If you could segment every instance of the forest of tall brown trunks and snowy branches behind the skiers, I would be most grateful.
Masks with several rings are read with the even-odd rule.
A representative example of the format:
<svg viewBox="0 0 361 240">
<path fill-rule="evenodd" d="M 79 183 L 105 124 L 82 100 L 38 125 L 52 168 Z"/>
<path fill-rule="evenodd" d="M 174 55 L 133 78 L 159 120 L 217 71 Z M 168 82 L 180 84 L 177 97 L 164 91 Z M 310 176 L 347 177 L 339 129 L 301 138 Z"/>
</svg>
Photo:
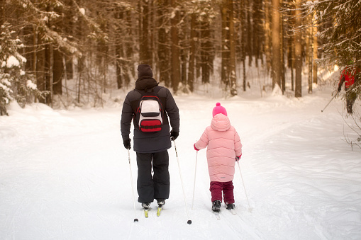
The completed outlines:
<svg viewBox="0 0 361 240">
<path fill-rule="evenodd" d="M 0 0 L 0 26 L 0 115 L 11 101 L 102 105 L 140 63 L 176 95 L 215 72 L 242 95 L 253 65 L 296 98 L 302 74 L 311 94 L 319 69 L 361 65 L 358 0 Z"/>
</svg>

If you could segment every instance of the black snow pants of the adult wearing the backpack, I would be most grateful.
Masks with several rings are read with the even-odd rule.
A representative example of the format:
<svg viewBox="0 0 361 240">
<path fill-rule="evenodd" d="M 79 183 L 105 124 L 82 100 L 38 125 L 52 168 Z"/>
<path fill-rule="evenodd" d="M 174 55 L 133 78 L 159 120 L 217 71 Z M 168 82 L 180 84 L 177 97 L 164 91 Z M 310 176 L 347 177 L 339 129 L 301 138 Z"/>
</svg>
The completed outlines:
<svg viewBox="0 0 361 240">
<path fill-rule="evenodd" d="M 168 151 L 144 154 L 137 152 L 138 202 L 153 202 L 170 196 L 170 173 Z M 153 169 L 153 175 L 152 175 Z"/>
</svg>

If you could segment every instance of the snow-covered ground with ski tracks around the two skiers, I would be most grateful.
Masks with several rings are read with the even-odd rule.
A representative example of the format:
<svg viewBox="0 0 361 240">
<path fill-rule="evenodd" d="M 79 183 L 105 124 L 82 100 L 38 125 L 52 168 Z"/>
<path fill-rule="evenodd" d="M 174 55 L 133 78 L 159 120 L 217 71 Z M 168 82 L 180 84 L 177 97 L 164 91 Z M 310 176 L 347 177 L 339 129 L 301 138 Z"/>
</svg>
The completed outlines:
<svg viewBox="0 0 361 240">
<path fill-rule="evenodd" d="M 340 100 L 321 113 L 331 90 L 299 99 L 174 98 L 179 165 L 173 146 L 170 199 L 160 217 L 153 203 L 148 219 L 138 202 L 133 208 L 121 103 L 69 111 L 12 104 L 0 117 L 0 239 L 361 239 L 361 150 L 344 140 L 355 133 Z M 218 101 L 243 142 L 238 215 L 223 207 L 221 220 L 211 213 L 206 151 L 196 166 L 193 149 Z M 133 151 L 130 159 L 135 187 Z"/>
</svg>

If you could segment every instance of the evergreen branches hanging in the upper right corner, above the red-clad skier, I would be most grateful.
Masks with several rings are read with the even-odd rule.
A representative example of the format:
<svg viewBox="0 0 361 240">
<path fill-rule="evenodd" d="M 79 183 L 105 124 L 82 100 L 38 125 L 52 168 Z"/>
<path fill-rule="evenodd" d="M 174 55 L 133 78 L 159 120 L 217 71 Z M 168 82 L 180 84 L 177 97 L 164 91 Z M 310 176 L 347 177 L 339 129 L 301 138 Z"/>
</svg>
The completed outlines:
<svg viewBox="0 0 361 240">
<path fill-rule="evenodd" d="M 323 57 L 318 59 L 322 67 L 333 69 L 337 65 L 361 69 L 361 1 L 308 1 L 309 13 L 316 12 L 319 26 L 318 37 L 323 40 Z M 349 91 L 361 98 L 361 72 L 356 71 L 359 81 Z M 346 98 L 346 94 L 343 94 Z"/>
</svg>

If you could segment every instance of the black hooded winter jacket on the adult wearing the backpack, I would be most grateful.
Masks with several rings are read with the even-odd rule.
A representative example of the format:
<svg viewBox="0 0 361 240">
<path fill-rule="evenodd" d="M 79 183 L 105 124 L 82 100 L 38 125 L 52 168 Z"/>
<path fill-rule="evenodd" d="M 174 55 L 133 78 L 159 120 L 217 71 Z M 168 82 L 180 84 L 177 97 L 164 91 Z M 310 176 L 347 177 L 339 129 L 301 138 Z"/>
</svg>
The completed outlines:
<svg viewBox="0 0 361 240">
<path fill-rule="evenodd" d="M 121 113 L 121 135 L 123 140 L 129 139 L 130 125 L 133 120 L 133 147 L 135 152 L 153 153 L 170 149 L 170 147 L 172 147 L 170 142 L 170 125 L 172 126 L 172 130 L 174 132 L 179 132 L 179 110 L 172 93 L 170 93 L 168 88 L 157 85 L 158 83 L 155 79 L 152 79 L 149 76 L 143 76 L 135 82 L 136 90 L 134 89 L 130 91 L 123 103 Z M 154 88 L 154 91 L 157 92 L 157 95 L 160 97 L 160 101 L 162 101 L 162 105 L 165 109 L 162 130 L 160 132 L 140 132 L 138 123 L 135 122 L 134 118 L 136 110 L 134 109 L 134 106 L 138 105 L 142 93 L 145 91 L 152 91 L 152 88 Z"/>
</svg>

